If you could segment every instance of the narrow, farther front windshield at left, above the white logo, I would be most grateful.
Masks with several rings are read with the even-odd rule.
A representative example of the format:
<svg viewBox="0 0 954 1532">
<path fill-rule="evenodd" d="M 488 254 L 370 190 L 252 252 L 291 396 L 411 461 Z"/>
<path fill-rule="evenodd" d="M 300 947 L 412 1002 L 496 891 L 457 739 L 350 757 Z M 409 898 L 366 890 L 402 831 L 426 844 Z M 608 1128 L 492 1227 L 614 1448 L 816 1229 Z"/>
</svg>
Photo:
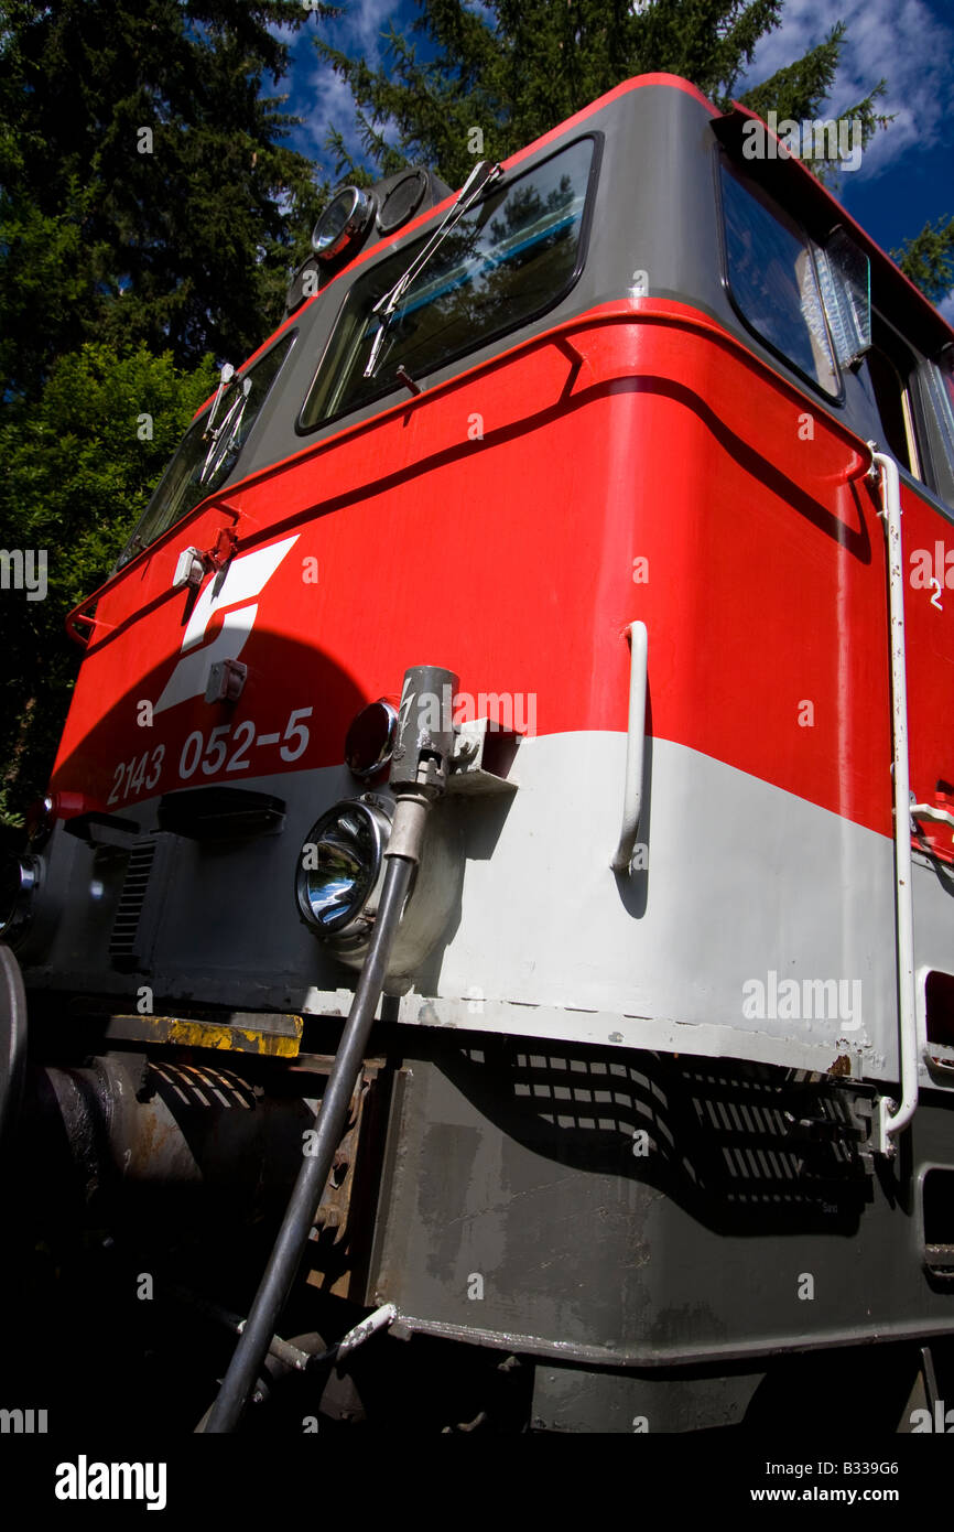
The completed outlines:
<svg viewBox="0 0 954 1532">
<path fill-rule="evenodd" d="M 239 461 L 242 447 L 279 368 L 288 355 L 292 339 L 294 336 L 285 336 L 251 368 L 234 374 L 219 398 L 211 432 L 208 430 L 208 409 L 193 421 L 182 446 L 162 475 L 156 493 L 142 512 L 116 568 L 129 564 L 136 553 L 147 548 L 201 499 L 225 483 Z"/>
</svg>

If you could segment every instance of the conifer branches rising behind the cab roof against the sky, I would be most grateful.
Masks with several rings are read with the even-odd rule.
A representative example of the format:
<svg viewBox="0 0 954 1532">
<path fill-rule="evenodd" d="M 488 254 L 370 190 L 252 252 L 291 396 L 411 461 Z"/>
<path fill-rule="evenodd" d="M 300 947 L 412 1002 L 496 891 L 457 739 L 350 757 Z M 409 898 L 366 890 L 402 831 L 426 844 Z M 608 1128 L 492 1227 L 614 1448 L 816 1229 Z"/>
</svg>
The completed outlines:
<svg viewBox="0 0 954 1532">
<path fill-rule="evenodd" d="M 504 158 L 639 74 L 692 80 L 727 107 L 761 37 L 781 20 L 784 0 L 490 0 L 478 15 L 464 0 L 418 0 L 412 34 L 384 34 L 387 67 L 371 69 L 320 38 L 315 46 L 348 81 L 361 147 L 380 173 L 424 162 L 461 185 L 473 156 L 470 127 L 484 152 Z M 779 118 L 816 118 L 827 100 L 844 43 L 844 26 L 822 44 L 749 92 L 746 104 Z M 890 121 L 876 112 L 880 81 L 848 113 L 862 119 L 864 141 Z M 340 132 L 329 147 L 338 173 L 354 175 Z"/>
</svg>

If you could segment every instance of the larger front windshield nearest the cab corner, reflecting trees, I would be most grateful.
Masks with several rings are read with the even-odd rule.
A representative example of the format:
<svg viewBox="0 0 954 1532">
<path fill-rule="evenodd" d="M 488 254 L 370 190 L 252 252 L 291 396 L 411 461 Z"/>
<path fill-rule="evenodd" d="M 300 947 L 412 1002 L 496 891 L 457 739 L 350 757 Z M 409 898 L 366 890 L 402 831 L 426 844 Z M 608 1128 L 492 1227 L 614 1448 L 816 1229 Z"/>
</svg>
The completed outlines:
<svg viewBox="0 0 954 1532">
<path fill-rule="evenodd" d="M 358 276 L 302 411 L 300 429 L 309 430 L 389 392 L 398 368 L 413 380 L 423 378 L 556 303 L 579 270 L 593 152 L 593 138 L 580 138 L 484 198 L 446 234 L 390 317 L 375 314 L 375 305 L 432 236 Z M 364 377 L 375 346 L 374 375 Z"/>
</svg>

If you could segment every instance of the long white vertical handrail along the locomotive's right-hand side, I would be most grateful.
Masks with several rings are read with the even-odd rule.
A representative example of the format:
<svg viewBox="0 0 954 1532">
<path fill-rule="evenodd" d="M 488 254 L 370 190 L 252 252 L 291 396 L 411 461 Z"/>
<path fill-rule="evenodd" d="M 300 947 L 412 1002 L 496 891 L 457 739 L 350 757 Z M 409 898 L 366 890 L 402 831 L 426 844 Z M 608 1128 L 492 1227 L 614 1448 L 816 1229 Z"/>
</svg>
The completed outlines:
<svg viewBox="0 0 954 1532">
<path fill-rule="evenodd" d="M 871 446 L 874 446 L 871 443 Z M 877 472 L 880 470 L 880 472 Z M 891 616 L 891 740 L 894 751 L 894 913 L 897 938 L 897 1030 L 900 1103 L 877 1100 L 879 1154 L 894 1154 L 894 1137 L 917 1111 L 917 993 L 914 980 L 914 896 L 911 892 L 911 791 L 908 780 L 908 682 L 905 654 L 905 562 L 900 539 L 900 480 L 897 463 L 885 452 L 871 453 L 877 475 L 888 555 Z"/>
</svg>

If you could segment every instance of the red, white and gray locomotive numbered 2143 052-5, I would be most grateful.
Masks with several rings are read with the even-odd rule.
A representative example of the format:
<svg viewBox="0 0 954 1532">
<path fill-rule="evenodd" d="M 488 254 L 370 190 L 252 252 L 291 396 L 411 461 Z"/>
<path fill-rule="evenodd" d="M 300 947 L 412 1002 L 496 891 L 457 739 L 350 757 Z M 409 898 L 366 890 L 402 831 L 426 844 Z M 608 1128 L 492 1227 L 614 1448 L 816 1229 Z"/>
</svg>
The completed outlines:
<svg viewBox="0 0 954 1532">
<path fill-rule="evenodd" d="M 67 617 L 5 1132 L 185 1431 L 943 1417 L 954 334 L 756 121 L 341 190 Z"/>
</svg>

